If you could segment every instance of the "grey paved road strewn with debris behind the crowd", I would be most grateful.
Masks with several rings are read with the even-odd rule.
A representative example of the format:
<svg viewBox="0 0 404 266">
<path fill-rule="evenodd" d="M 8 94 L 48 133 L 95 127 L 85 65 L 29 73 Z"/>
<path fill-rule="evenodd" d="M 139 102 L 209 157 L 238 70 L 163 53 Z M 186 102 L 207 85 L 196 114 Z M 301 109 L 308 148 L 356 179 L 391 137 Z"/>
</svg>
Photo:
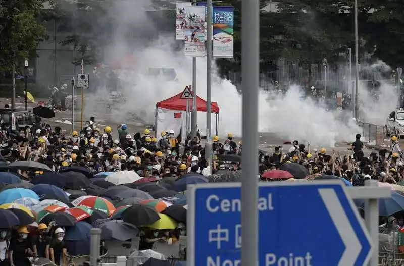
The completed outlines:
<svg viewBox="0 0 404 266">
<path fill-rule="evenodd" d="M 44 100 L 44 99 L 36 99 L 36 101 L 39 100 Z M 11 101 L 8 98 L 0 98 L 0 107 L 3 107 L 4 104 L 10 104 L 11 105 Z M 33 104 L 31 102 L 28 103 L 28 110 L 32 110 L 32 108 L 34 108 L 36 106 L 36 104 Z M 25 108 L 25 103 L 23 102 L 23 99 L 18 98 L 16 100 L 16 108 L 17 109 L 24 109 Z M 77 113 L 77 115 L 76 115 Z M 75 123 L 74 123 L 74 128 L 75 130 L 80 129 L 81 123 L 80 123 L 80 112 L 75 112 Z M 50 124 L 52 127 L 55 126 L 60 126 L 62 129 L 66 130 L 67 133 L 71 133 L 71 129 L 72 129 L 72 125 L 71 125 L 71 111 L 66 111 L 66 112 L 56 112 L 55 114 L 55 118 L 53 119 L 44 119 L 43 122 L 44 123 L 48 123 Z M 95 123 L 98 124 L 99 128 L 101 130 L 103 130 L 103 128 L 106 125 L 109 125 L 113 128 L 113 131 L 116 132 L 117 127 L 122 123 L 120 121 L 119 118 L 114 118 L 114 117 L 110 117 L 109 115 L 104 115 L 104 117 L 102 116 L 96 116 L 94 114 L 84 114 L 84 120 L 88 120 L 91 116 L 95 117 Z M 63 123 L 66 122 L 66 123 Z M 126 124 L 128 125 L 128 132 L 133 135 L 136 132 L 143 132 L 145 129 L 145 126 L 142 124 L 141 121 L 137 120 L 136 118 L 134 118 L 133 120 L 129 120 L 126 122 Z M 284 144 L 285 139 L 277 136 L 274 133 L 271 132 L 259 132 L 259 149 L 264 150 L 268 153 L 272 153 L 273 149 L 277 146 L 277 145 L 282 145 L 282 148 L 284 150 L 288 150 L 290 148 L 290 144 Z M 241 140 L 240 138 L 235 138 L 235 141 L 238 142 L 239 140 Z M 289 140 L 290 141 L 290 140 Z M 403 140 L 404 143 L 404 140 Z M 327 153 L 330 153 L 332 149 L 335 149 L 335 151 L 340 152 L 341 155 L 350 155 L 350 150 L 348 150 L 349 148 L 349 144 L 347 143 L 336 143 L 335 147 L 330 147 L 330 146 L 326 146 L 325 148 L 327 149 Z M 320 149 L 320 146 L 315 146 L 312 147 L 312 149 Z M 365 151 L 365 155 L 368 155 L 371 152 L 371 149 L 368 149 Z"/>
</svg>

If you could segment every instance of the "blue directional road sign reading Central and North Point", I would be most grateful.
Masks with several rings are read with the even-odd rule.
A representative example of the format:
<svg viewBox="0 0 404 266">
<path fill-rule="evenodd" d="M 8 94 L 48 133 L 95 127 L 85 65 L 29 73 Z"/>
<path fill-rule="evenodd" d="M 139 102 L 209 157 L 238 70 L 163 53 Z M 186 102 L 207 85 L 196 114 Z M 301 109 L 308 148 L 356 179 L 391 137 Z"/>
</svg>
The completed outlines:
<svg viewBox="0 0 404 266">
<path fill-rule="evenodd" d="M 240 185 L 190 186 L 187 219 L 190 266 L 240 266 Z M 339 181 L 260 184 L 259 265 L 367 264 L 371 240 L 345 189 Z M 242 266 L 251 265 L 256 266 L 254 261 Z"/>
</svg>

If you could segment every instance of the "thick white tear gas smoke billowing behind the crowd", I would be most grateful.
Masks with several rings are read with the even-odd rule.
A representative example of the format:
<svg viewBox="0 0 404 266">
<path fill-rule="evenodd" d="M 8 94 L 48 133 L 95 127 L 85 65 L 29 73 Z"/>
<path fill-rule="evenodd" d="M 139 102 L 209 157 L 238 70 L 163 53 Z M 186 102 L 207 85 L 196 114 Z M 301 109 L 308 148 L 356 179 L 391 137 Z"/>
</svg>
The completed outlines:
<svg viewBox="0 0 404 266">
<path fill-rule="evenodd" d="M 120 18 L 115 37 L 117 41 L 115 45 L 109 47 L 106 54 L 109 59 L 120 57 L 123 55 L 122 51 L 131 51 L 133 50 L 131 47 L 135 47 L 135 66 L 133 70 L 126 71 L 125 78 L 120 84 L 126 102 L 118 100 L 114 103 L 111 113 L 106 114 L 105 108 L 99 110 L 99 103 L 100 100 L 109 99 L 111 95 L 105 88 L 103 90 L 99 87 L 96 96 L 93 97 L 94 100 L 86 101 L 86 112 L 95 112 L 98 117 L 109 116 L 115 123 L 154 124 L 156 103 L 180 93 L 185 85 L 192 83 L 192 59 L 185 57 L 182 50 L 175 51 L 173 48 L 174 30 L 170 34 L 157 33 L 158 38 L 149 41 L 147 45 L 136 43 L 128 45 L 122 36 L 126 25 L 133 23 L 141 25 L 142 32 L 145 30 L 158 32 L 158 29 L 154 29 L 149 19 L 144 16 L 146 10 L 144 6 L 149 5 L 148 2 L 137 2 L 136 8 L 122 4 L 126 2 L 114 3 L 114 12 Z M 173 68 L 177 73 L 177 79 L 167 81 L 164 76 L 150 77 L 149 68 Z M 205 58 L 197 58 L 196 73 L 197 94 L 206 99 Z M 383 84 L 382 91 L 381 99 L 391 100 L 390 87 Z M 246 89 L 244 93 L 248 93 L 248 90 Z M 360 95 L 364 117 L 369 121 L 383 122 L 386 114 L 390 112 L 387 112 L 387 109 L 391 109 L 391 103 L 384 102 L 385 104 L 379 108 L 380 101 L 370 100 L 371 97 L 364 86 L 361 86 Z M 241 95 L 230 81 L 220 79 L 215 73 L 212 78 L 212 101 L 216 101 L 220 108 L 219 135 L 233 133 L 235 136 L 241 136 Z M 336 141 L 352 140 L 355 134 L 361 132 L 350 114 L 326 111 L 322 104 L 316 104 L 311 98 L 304 97 L 299 86 L 291 86 L 286 95 L 260 91 L 258 115 L 260 132 L 274 132 L 285 139 L 298 139 L 317 145 L 333 146 Z M 206 113 L 198 113 L 198 127 L 201 134 L 205 135 Z M 216 132 L 214 115 L 212 132 Z"/>
</svg>

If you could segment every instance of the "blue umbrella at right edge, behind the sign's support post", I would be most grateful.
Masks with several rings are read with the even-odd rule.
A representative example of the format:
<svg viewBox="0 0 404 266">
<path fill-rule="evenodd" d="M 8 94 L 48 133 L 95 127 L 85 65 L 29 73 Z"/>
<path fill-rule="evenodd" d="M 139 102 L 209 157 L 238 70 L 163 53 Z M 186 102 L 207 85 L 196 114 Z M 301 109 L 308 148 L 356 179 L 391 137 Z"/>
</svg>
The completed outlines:
<svg viewBox="0 0 404 266">
<path fill-rule="evenodd" d="M 365 201 L 362 199 L 355 199 L 354 202 L 357 207 L 365 207 Z M 396 191 L 391 191 L 391 198 L 379 199 L 379 216 L 390 216 L 402 210 L 404 210 L 404 196 Z"/>
</svg>

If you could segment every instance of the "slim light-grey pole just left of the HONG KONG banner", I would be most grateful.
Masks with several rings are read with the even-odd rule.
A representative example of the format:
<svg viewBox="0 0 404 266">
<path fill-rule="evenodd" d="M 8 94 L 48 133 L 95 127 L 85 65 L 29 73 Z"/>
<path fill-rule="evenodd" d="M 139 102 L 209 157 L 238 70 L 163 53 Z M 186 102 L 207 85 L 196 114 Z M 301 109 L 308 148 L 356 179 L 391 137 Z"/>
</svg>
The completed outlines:
<svg viewBox="0 0 404 266">
<path fill-rule="evenodd" d="M 212 0 L 207 3 L 208 20 L 206 36 L 206 144 L 205 158 L 209 159 L 212 169 L 213 150 L 212 150 Z"/>
</svg>

